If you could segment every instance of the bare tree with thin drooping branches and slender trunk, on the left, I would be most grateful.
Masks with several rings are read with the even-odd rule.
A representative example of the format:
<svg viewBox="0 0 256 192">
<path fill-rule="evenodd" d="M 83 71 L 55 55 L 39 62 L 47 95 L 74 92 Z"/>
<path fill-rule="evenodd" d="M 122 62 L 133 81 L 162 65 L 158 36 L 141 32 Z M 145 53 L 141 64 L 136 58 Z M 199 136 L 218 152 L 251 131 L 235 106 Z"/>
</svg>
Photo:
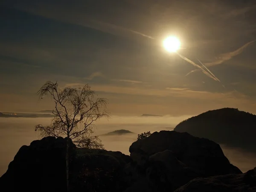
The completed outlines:
<svg viewBox="0 0 256 192">
<path fill-rule="evenodd" d="M 69 186 L 69 141 L 78 147 L 104 148 L 101 140 L 93 136 L 94 122 L 102 117 L 109 117 L 107 99 L 94 99 L 95 92 L 88 84 L 84 87 L 65 87 L 58 89 L 58 83 L 47 81 L 38 91 L 41 99 L 50 96 L 55 102 L 52 113 L 55 117 L 49 126 L 36 125 L 35 131 L 40 132 L 40 137 L 54 136 L 67 137 L 66 169 L 67 192 Z"/>
</svg>

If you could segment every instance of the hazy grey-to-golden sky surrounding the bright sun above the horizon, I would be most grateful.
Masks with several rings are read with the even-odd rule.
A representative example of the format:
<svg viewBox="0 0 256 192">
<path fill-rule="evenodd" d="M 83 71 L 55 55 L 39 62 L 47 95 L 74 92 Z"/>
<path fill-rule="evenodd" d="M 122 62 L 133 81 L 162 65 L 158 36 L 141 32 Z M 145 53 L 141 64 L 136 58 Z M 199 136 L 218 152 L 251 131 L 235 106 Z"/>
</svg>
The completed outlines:
<svg viewBox="0 0 256 192">
<path fill-rule="evenodd" d="M 52 109 L 36 92 L 58 81 L 113 114 L 256 113 L 255 18 L 254 0 L 1 0 L 0 111 Z M 167 52 L 169 35 L 221 83 Z"/>
</svg>

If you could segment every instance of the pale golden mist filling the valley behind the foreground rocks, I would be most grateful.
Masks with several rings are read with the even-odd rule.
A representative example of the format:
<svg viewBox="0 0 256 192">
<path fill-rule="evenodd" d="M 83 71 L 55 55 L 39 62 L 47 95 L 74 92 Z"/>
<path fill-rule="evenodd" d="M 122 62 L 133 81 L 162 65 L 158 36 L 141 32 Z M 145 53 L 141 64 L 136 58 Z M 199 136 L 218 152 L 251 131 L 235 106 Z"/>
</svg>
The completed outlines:
<svg viewBox="0 0 256 192">
<path fill-rule="evenodd" d="M 100 119 L 96 122 L 95 134 L 99 135 L 104 147 L 108 151 L 121 151 L 129 155 L 131 143 L 137 140 L 137 134 L 151 131 L 169 130 L 187 119 L 189 116 L 111 116 L 111 119 Z M 38 140 L 35 125 L 49 125 L 51 118 L 0 118 L 0 175 L 3 175 L 9 163 L 22 145 L 29 145 L 33 140 Z M 111 131 L 125 129 L 134 134 L 104 136 Z M 240 148 L 230 148 L 221 145 L 224 154 L 230 162 L 238 166 L 242 172 L 253 169 L 256 162 L 256 153 L 249 153 Z"/>
</svg>

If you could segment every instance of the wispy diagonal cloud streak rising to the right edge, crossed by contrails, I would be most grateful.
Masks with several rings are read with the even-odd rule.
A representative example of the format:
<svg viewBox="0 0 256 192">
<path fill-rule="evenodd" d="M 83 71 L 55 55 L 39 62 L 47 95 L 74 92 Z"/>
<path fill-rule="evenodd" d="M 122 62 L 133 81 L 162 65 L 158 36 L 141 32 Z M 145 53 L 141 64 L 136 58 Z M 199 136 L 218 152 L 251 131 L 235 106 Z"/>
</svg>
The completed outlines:
<svg viewBox="0 0 256 192">
<path fill-rule="evenodd" d="M 218 57 L 218 60 L 213 61 L 213 62 L 206 63 L 206 64 L 204 64 L 204 65 L 207 66 L 207 67 L 211 67 L 211 66 L 215 66 L 215 65 L 222 64 L 222 63 L 224 63 L 225 61 L 228 61 L 228 60 L 230 60 L 231 58 L 235 57 L 236 55 L 239 55 L 241 52 L 244 51 L 245 48 L 247 48 L 250 44 L 254 43 L 255 41 L 256 41 L 256 40 L 250 41 L 250 42 L 248 42 L 247 44 L 244 44 L 242 47 L 240 47 L 239 49 L 236 49 L 236 50 L 233 51 L 233 52 L 227 52 L 227 53 L 221 54 L 221 55 Z M 198 69 L 197 69 L 197 70 L 192 70 L 192 71 L 190 71 L 189 73 L 186 74 L 186 76 L 188 76 L 190 73 L 193 73 L 193 72 L 195 72 L 195 71 L 198 71 Z"/>
</svg>

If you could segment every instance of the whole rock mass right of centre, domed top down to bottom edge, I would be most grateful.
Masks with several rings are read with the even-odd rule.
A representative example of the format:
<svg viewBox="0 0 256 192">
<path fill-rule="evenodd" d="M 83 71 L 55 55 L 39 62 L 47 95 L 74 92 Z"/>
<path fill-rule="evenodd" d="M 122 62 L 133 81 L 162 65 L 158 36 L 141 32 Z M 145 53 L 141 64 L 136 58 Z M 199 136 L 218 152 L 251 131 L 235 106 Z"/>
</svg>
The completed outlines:
<svg viewBox="0 0 256 192">
<path fill-rule="evenodd" d="M 172 192 L 196 177 L 242 173 L 217 143 L 188 133 L 154 132 L 134 142 L 129 151 L 137 180 L 125 192 Z"/>
</svg>

